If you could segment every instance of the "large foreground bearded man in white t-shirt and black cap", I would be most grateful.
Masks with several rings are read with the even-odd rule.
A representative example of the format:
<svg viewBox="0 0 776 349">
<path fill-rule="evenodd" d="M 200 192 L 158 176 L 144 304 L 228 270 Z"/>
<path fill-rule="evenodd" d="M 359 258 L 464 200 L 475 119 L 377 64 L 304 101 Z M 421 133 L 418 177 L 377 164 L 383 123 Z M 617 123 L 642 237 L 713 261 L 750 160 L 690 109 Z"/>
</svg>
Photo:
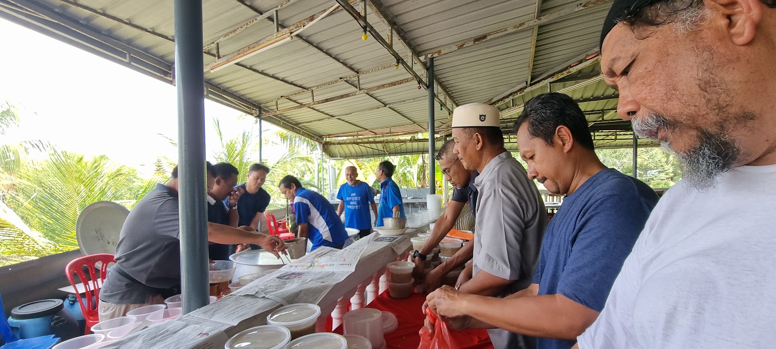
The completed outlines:
<svg viewBox="0 0 776 349">
<path fill-rule="evenodd" d="M 776 1 L 615 0 L 618 113 L 677 154 L 581 348 L 776 347 Z"/>
</svg>

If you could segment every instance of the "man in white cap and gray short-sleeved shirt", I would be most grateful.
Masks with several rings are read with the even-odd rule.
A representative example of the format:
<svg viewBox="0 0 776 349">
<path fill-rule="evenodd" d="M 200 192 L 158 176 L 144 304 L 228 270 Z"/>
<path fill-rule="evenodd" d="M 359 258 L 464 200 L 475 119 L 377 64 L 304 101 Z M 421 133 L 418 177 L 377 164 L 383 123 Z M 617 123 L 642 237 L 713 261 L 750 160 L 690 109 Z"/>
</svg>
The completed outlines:
<svg viewBox="0 0 776 349">
<path fill-rule="evenodd" d="M 476 204 L 473 277 L 460 291 L 511 295 L 531 285 L 547 226 L 542 195 L 525 168 L 504 148 L 499 112 L 493 105 L 460 105 L 452 114 L 453 152 L 474 181 Z M 488 330 L 494 347 L 534 347 L 532 338 Z"/>
</svg>

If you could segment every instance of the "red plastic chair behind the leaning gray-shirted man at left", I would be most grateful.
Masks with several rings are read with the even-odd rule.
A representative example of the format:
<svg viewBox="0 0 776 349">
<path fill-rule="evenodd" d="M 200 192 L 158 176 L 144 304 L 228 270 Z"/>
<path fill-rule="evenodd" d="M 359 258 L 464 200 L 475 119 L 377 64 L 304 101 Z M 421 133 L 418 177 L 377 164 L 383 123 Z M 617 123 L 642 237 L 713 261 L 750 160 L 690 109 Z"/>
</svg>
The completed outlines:
<svg viewBox="0 0 776 349">
<path fill-rule="evenodd" d="M 91 333 L 92 326 L 99 323 L 99 289 L 108 275 L 108 264 L 116 263 L 114 258 L 113 254 L 90 254 L 75 258 L 68 263 L 67 267 L 64 267 L 64 273 L 68 275 L 68 281 L 73 286 L 73 289 L 76 289 L 75 284 L 78 283 L 75 282 L 73 275 L 78 275 L 78 278 L 84 284 L 84 297 L 76 295 L 78 304 L 81 306 L 81 313 L 84 314 L 84 319 L 86 320 L 84 334 Z M 97 272 L 97 262 L 100 262 L 99 274 Z M 88 276 L 84 273 L 84 268 L 88 271 Z M 78 292 L 78 289 L 76 289 L 76 292 Z"/>
</svg>

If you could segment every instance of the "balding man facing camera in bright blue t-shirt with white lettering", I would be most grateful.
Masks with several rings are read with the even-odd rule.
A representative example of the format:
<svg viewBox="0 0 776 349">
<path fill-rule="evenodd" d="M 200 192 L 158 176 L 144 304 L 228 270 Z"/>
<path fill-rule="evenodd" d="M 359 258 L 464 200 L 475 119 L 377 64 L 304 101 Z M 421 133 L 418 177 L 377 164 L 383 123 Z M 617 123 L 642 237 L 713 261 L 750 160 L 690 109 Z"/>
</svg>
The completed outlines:
<svg viewBox="0 0 776 349">
<path fill-rule="evenodd" d="M 345 180 L 347 183 L 340 185 L 337 199 L 340 204 L 337 207 L 337 216 L 345 211 L 345 226 L 358 229 L 359 237 L 365 237 L 372 233 L 372 216 L 369 216 L 369 206 L 377 219 L 377 205 L 372 195 L 372 187 L 359 181 L 359 171 L 355 166 L 345 168 Z M 376 222 L 376 220 L 375 220 Z"/>
</svg>

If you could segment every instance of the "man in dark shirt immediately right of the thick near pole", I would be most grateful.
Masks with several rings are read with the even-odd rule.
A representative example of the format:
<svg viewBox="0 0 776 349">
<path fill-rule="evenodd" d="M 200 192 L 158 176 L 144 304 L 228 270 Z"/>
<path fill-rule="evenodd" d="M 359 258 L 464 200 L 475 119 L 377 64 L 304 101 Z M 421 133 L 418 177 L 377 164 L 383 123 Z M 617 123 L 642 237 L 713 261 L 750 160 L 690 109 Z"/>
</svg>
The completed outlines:
<svg viewBox="0 0 776 349">
<path fill-rule="evenodd" d="M 239 171 L 232 164 L 222 162 L 213 165 L 216 181 L 207 192 L 207 221 L 237 228 L 237 199 L 243 190 L 234 190 Z M 228 261 L 235 251 L 234 245 L 210 243 L 208 254 L 213 261 Z"/>
</svg>

